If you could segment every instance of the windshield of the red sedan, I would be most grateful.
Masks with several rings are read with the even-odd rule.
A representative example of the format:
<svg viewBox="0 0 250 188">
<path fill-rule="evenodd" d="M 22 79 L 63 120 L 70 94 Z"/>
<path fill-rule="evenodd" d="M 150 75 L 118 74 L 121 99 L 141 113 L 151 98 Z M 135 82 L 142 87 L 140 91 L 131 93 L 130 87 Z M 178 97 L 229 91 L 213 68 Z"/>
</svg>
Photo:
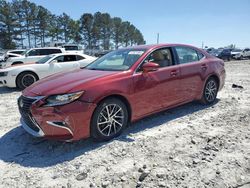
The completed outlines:
<svg viewBox="0 0 250 188">
<path fill-rule="evenodd" d="M 122 49 L 110 52 L 86 67 L 90 70 L 124 71 L 128 70 L 146 49 Z"/>
</svg>

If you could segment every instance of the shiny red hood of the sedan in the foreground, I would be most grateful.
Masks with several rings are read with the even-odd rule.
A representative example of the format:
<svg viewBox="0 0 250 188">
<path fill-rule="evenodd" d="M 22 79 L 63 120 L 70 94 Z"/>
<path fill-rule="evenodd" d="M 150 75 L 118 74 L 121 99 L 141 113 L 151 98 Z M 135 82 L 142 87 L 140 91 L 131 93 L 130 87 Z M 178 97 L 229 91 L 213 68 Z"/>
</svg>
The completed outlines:
<svg viewBox="0 0 250 188">
<path fill-rule="evenodd" d="M 117 71 L 77 69 L 48 76 L 23 91 L 25 96 L 48 96 L 84 90 L 87 83 L 117 74 Z M 80 87 L 79 87 L 80 86 Z"/>
</svg>

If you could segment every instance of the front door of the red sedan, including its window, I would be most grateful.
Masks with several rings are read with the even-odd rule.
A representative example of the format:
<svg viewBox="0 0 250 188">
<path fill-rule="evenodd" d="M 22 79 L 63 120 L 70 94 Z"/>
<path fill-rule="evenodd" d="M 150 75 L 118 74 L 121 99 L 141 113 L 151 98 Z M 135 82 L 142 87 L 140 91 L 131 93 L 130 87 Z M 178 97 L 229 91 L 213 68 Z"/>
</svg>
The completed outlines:
<svg viewBox="0 0 250 188">
<path fill-rule="evenodd" d="M 142 65 L 154 62 L 160 68 L 153 72 L 143 73 Z M 140 65 L 133 76 L 134 94 L 137 103 L 134 105 L 135 116 L 140 117 L 162 108 L 175 105 L 179 101 L 179 66 L 171 48 L 162 48 L 152 52 Z"/>
</svg>

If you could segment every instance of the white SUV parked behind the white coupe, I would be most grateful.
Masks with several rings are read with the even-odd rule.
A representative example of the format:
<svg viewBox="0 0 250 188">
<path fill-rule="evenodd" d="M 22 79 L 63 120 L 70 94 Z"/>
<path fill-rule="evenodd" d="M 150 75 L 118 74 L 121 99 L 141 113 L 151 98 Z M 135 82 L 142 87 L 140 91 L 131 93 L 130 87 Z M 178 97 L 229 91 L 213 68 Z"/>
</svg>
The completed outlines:
<svg viewBox="0 0 250 188">
<path fill-rule="evenodd" d="M 45 47 L 45 48 L 31 48 L 22 54 L 21 57 L 8 58 L 6 62 L 2 62 L 1 67 L 8 67 L 11 65 L 33 63 L 42 59 L 46 55 L 63 53 L 65 50 L 63 48 L 57 47 Z"/>
</svg>

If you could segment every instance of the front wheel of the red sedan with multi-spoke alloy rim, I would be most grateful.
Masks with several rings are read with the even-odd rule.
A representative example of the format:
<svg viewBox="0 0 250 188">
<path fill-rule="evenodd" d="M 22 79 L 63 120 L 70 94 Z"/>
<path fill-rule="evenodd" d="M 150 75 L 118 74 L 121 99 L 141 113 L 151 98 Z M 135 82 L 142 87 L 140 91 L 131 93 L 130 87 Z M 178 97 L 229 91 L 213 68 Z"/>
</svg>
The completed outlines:
<svg viewBox="0 0 250 188">
<path fill-rule="evenodd" d="M 91 137 L 95 141 L 109 141 L 119 136 L 128 124 L 128 110 L 119 99 L 101 102 L 91 120 Z"/>
</svg>

